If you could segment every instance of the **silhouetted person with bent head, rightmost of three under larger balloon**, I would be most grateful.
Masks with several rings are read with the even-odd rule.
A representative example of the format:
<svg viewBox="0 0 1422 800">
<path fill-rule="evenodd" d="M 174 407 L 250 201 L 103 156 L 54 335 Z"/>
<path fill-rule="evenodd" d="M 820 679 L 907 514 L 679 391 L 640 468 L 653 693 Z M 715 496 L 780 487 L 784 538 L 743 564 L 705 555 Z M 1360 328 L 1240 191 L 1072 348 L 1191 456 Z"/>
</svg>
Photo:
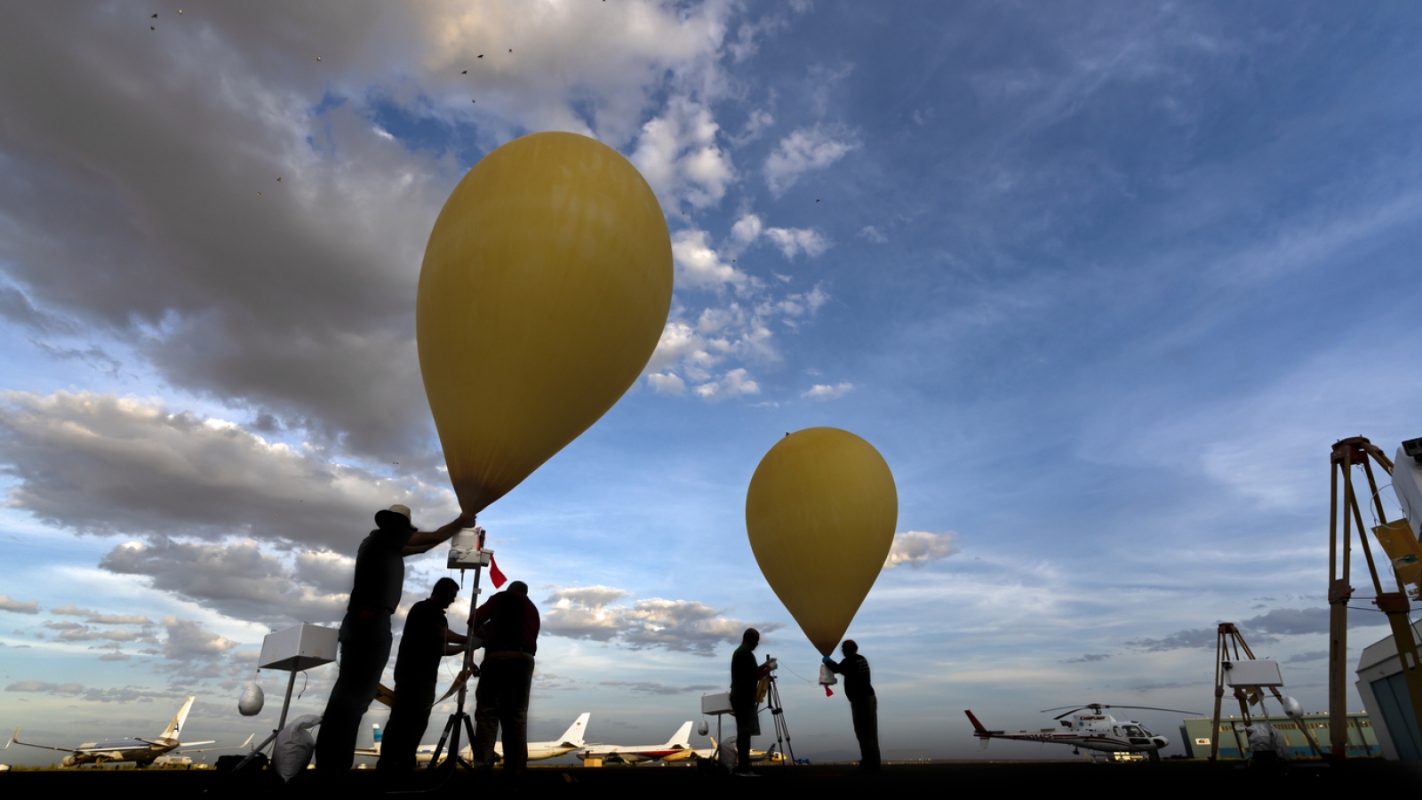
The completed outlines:
<svg viewBox="0 0 1422 800">
<path fill-rule="evenodd" d="M 538 652 L 539 616 L 523 581 L 493 595 L 474 612 L 483 639 L 479 686 L 474 692 L 474 757 L 493 764 L 493 740 L 503 727 L 503 772 L 522 774 L 529 762 L 529 688 Z"/>
</svg>

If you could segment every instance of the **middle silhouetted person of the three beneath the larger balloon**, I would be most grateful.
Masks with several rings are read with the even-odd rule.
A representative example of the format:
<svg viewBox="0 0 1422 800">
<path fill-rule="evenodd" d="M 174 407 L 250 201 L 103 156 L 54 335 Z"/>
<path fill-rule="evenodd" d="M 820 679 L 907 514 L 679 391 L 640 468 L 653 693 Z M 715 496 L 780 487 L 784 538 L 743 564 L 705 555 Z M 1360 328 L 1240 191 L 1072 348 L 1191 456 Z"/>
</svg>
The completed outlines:
<svg viewBox="0 0 1422 800">
<path fill-rule="evenodd" d="M 464 652 L 465 638 L 449 629 L 445 609 L 459 596 L 459 584 L 439 578 L 422 599 L 410 606 L 395 656 L 395 705 L 390 709 L 385 737 L 375 769 L 388 780 L 404 780 L 415 769 L 415 750 L 429 725 L 439 660 Z"/>
</svg>

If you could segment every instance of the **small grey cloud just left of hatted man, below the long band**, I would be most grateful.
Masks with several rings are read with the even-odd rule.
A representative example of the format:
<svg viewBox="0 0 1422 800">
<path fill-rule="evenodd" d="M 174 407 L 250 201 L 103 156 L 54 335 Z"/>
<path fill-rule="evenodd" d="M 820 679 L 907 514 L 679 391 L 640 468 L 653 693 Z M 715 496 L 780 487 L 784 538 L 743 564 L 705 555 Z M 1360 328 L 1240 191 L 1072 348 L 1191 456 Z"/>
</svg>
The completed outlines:
<svg viewBox="0 0 1422 800">
<path fill-rule="evenodd" d="M 307 551 L 289 564 L 252 540 L 186 542 L 154 537 L 124 542 L 100 568 L 148 584 L 236 619 L 333 622 L 346 614 L 354 559 Z M 168 621 L 164 621 L 168 625 Z"/>
</svg>

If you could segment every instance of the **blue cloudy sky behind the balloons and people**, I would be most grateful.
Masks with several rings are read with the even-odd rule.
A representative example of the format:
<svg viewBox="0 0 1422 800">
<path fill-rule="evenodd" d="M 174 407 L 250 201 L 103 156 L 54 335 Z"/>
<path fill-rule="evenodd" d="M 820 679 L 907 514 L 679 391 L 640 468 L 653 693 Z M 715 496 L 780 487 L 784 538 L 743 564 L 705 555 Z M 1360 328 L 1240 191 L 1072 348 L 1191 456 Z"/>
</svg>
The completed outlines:
<svg viewBox="0 0 1422 800">
<path fill-rule="evenodd" d="M 664 740 L 757 625 L 796 754 L 853 754 L 745 532 L 815 426 L 897 484 L 848 632 L 886 757 L 975 757 L 963 709 L 1209 712 L 1223 621 L 1324 710 L 1330 446 L 1422 436 L 1416 6 L 181 9 L 0 10 L 0 727 L 149 736 L 189 695 L 192 737 L 273 726 L 262 638 L 338 622 L 375 510 L 458 514 L 419 263 L 538 131 L 641 171 L 675 290 L 637 383 L 479 517 L 543 615 L 532 739 Z"/>
</svg>

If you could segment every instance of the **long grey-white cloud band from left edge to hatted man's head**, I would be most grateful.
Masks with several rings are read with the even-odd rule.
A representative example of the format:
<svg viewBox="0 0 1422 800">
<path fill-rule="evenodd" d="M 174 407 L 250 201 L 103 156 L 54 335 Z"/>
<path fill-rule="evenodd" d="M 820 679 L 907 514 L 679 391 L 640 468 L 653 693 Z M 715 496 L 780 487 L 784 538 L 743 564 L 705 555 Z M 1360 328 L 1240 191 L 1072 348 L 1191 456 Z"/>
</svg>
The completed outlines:
<svg viewBox="0 0 1422 800">
<path fill-rule="evenodd" d="M 350 548 L 375 508 L 454 517 L 448 491 L 331 463 L 232 423 L 112 394 L 0 396 L 10 505 L 97 534 L 230 534 Z M 442 511 L 442 514 L 439 514 Z"/>
</svg>

